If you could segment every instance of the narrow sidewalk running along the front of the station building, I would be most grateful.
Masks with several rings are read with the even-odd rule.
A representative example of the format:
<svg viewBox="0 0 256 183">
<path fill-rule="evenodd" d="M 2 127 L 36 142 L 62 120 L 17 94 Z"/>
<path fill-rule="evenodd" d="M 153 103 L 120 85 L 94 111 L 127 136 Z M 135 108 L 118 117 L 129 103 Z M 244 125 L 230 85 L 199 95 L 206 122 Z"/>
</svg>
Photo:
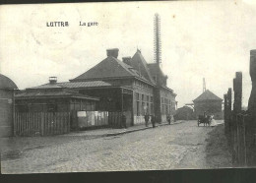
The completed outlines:
<svg viewBox="0 0 256 183">
<path fill-rule="evenodd" d="M 184 122 L 184 121 L 179 120 L 179 121 L 170 123 L 170 125 L 174 125 L 174 124 L 178 124 L 178 123 L 182 123 L 182 122 Z M 164 125 L 168 125 L 168 123 L 166 123 L 166 122 L 163 122 L 161 124 L 157 123 L 156 128 L 158 128 L 160 126 L 164 126 Z M 145 124 L 142 124 L 142 125 L 135 125 L 132 127 L 128 127 L 127 129 L 107 128 L 107 129 L 96 129 L 96 130 L 88 130 L 88 131 L 77 131 L 77 132 L 71 132 L 69 134 L 64 134 L 61 136 L 83 136 L 83 137 L 91 137 L 91 138 L 109 137 L 109 136 L 117 136 L 117 135 L 121 135 L 121 134 L 127 134 L 127 133 L 131 133 L 131 132 L 141 131 L 141 130 L 147 130 L 147 129 L 151 129 L 151 128 L 153 128 L 152 124 L 150 124 L 148 127 L 146 127 Z"/>
</svg>

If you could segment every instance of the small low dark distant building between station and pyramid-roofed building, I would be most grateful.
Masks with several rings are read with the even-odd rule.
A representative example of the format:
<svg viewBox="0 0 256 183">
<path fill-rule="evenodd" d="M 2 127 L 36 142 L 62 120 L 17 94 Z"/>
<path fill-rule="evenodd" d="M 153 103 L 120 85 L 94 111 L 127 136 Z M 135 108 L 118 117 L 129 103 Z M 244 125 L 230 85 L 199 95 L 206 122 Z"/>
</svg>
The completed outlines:
<svg viewBox="0 0 256 183">
<path fill-rule="evenodd" d="M 176 110 L 174 118 L 175 120 L 193 120 L 196 119 L 196 116 L 193 107 L 185 105 Z"/>
</svg>

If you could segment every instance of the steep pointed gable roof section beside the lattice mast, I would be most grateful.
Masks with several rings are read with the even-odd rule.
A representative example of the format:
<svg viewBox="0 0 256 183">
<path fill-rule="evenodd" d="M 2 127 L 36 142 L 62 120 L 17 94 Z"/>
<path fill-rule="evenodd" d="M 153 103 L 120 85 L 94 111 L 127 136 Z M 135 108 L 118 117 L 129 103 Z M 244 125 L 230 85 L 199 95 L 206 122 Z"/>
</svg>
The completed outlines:
<svg viewBox="0 0 256 183">
<path fill-rule="evenodd" d="M 137 50 L 137 52 L 133 55 L 133 57 L 130 60 L 130 64 L 134 69 L 139 71 L 139 73 L 142 76 L 144 76 L 148 81 L 150 81 L 152 84 L 155 84 L 155 81 L 153 80 L 153 77 L 151 76 L 150 69 L 148 67 L 148 63 L 142 56 L 140 50 Z"/>
</svg>

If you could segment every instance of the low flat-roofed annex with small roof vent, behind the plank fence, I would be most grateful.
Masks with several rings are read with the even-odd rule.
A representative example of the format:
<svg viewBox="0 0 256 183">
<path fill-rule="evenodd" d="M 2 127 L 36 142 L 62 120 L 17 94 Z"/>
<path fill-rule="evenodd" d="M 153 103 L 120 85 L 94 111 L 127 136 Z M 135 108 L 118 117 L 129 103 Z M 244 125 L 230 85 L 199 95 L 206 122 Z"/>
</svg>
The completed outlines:
<svg viewBox="0 0 256 183">
<path fill-rule="evenodd" d="M 69 89 L 65 84 L 57 83 L 56 77 L 50 77 L 49 83 L 17 91 L 15 94 L 16 111 L 24 112 L 70 112 L 71 130 L 78 127 L 78 111 L 95 111 L 99 100 L 77 90 Z"/>
</svg>

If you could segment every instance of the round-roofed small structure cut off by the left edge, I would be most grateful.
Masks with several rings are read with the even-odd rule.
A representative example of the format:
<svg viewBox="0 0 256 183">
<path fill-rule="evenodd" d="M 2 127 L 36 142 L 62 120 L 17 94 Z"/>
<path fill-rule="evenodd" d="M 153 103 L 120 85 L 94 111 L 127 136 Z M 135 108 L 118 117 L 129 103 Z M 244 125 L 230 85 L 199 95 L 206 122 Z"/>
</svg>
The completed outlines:
<svg viewBox="0 0 256 183">
<path fill-rule="evenodd" d="M 15 83 L 0 74 L 0 138 L 13 136 Z"/>
</svg>

